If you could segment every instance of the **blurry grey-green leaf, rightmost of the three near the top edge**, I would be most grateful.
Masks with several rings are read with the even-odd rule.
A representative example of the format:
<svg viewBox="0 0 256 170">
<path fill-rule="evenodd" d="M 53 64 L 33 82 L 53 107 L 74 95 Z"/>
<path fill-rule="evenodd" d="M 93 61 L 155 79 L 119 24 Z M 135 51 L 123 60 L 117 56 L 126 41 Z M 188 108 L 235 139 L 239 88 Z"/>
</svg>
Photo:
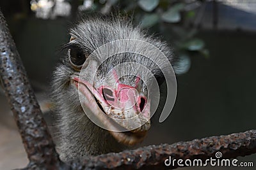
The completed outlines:
<svg viewBox="0 0 256 170">
<path fill-rule="evenodd" d="M 183 3 L 174 4 L 169 8 L 169 10 L 163 13 L 163 15 L 161 16 L 162 20 L 170 23 L 179 22 L 181 19 L 180 10 L 182 10 L 184 6 L 185 5 Z"/>
</svg>

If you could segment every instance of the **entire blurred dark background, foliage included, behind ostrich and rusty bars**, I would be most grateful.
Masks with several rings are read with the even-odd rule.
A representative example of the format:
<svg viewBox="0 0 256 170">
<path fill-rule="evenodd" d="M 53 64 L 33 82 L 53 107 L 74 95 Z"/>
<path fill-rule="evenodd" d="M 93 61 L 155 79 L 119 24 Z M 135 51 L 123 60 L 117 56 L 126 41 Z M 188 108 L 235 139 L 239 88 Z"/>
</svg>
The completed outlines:
<svg viewBox="0 0 256 170">
<path fill-rule="evenodd" d="M 177 101 L 168 119 L 154 116 L 140 146 L 175 143 L 255 129 L 256 1 L 254 0 L 1 0 L 36 97 L 49 113 L 49 81 L 58 48 L 69 40 L 77 13 L 122 13 L 175 48 Z M 0 92 L 0 169 L 28 164 L 3 90 Z M 256 155 L 239 157 L 253 162 Z M 183 169 L 230 169 L 186 167 Z M 255 167 L 254 167 L 255 168 Z M 180 168 L 181 169 L 181 168 Z M 237 167 L 236 169 L 253 169 Z"/>
</svg>

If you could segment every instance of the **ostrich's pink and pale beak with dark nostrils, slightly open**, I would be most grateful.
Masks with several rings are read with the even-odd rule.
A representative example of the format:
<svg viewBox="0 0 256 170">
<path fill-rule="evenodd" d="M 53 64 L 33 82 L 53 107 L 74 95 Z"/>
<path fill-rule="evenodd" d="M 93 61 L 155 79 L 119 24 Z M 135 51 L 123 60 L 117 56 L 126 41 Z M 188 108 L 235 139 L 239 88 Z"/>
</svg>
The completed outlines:
<svg viewBox="0 0 256 170">
<path fill-rule="evenodd" d="M 78 89 L 81 105 L 89 118 L 97 118 L 100 127 L 108 129 L 116 141 L 124 145 L 136 145 L 143 141 L 150 128 L 150 104 L 145 97 L 132 93 L 132 87 L 123 85 L 118 92 L 110 88 L 95 89 L 91 83 L 72 77 L 71 81 Z M 125 96 L 126 94 L 126 96 Z M 120 96 L 119 95 L 119 96 Z M 129 99 L 130 101 L 125 101 Z M 132 100 L 134 99 L 134 100 Z"/>
</svg>

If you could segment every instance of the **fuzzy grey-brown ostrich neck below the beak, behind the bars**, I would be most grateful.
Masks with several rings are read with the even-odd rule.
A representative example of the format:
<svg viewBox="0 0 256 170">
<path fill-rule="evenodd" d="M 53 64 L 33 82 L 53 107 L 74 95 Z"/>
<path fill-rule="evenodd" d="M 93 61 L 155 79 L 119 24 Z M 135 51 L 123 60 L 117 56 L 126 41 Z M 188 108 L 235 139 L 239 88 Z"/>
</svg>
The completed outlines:
<svg viewBox="0 0 256 170">
<path fill-rule="evenodd" d="M 61 113 L 63 114 L 63 113 Z M 120 152 L 124 146 L 108 131 L 93 124 L 83 110 L 67 112 L 61 117 L 61 138 L 57 143 L 61 160 L 70 160 L 88 155 Z"/>
</svg>

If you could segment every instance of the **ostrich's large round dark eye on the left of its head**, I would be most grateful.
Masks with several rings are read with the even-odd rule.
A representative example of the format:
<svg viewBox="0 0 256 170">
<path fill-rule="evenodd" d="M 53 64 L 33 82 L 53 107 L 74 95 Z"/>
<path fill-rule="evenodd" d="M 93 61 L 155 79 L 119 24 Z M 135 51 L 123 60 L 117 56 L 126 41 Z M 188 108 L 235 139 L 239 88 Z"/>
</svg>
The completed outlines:
<svg viewBox="0 0 256 170">
<path fill-rule="evenodd" d="M 86 60 L 86 56 L 84 55 L 84 53 L 77 48 L 68 49 L 68 57 L 71 64 L 76 67 L 82 67 Z"/>
</svg>

